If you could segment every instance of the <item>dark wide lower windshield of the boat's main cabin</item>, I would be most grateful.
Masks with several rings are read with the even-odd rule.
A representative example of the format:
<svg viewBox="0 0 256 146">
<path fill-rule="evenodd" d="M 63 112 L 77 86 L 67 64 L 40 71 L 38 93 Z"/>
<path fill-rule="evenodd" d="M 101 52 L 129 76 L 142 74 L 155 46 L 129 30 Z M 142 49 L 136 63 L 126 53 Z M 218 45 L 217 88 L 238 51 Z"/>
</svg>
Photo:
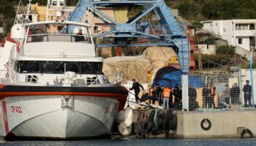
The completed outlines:
<svg viewBox="0 0 256 146">
<path fill-rule="evenodd" d="M 19 73 L 38 74 L 102 74 L 102 62 L 82 61 L 16 61 L 15 71 Z"/>
</svg>

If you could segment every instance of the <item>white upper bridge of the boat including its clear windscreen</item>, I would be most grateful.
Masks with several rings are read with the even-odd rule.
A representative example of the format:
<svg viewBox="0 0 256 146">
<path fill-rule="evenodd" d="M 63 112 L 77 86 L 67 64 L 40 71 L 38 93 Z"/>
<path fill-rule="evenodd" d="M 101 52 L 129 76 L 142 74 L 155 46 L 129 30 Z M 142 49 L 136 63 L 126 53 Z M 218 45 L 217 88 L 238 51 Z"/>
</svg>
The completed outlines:
<svg viewBox="0 0 256 146">
<path fill-rule="evenodd" d="M 26 26 L 29 29 L 20 55 L 61 58 L 95 56 L 88 24 L 48 21 Z"/>
</svg>

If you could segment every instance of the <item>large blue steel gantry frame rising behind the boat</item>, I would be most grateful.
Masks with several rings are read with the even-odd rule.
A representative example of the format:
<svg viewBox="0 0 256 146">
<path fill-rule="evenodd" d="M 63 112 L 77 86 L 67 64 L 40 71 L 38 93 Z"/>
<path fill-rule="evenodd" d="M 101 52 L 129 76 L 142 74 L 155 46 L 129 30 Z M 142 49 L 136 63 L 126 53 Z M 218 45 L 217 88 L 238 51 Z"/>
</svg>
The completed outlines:
<svg viewBox="0 0 256 146">
<path fill-rule="evenodd" d="M 126 23 L 117 23 L 116 20 L 108 17 L 99 7 L 142 7 L 133 18 Z M 170 12 L 164 0 L 140 0 L 140 1 L 94 1 L 80 0 L 69 17 L 69 20 L 82 22 L 87 11 L 110 26 L 110 31 L 94 35 L 93 38 L 102 38 L 108 44 L 97 44 L 97 47 L 127 47 L 127 46 L 170 46 L 176 50 L 181 64 L 181 70 L 189 72 L 190 45 L 187 37 L 187 28 L 182 27 Z M 143 17 L 154 12 L 159 24 L 152 26 L 150 22 L 141 21 Z M 141 29 L 143 27 L 143 30 Z M 160 28 L 160 33 L 155 33 L 155 29 Z M 151 33 L 154 32 L 154 33 Z M 138 43 L 134 40 L 151 40 L 148 43 Z"/>
</svg>

